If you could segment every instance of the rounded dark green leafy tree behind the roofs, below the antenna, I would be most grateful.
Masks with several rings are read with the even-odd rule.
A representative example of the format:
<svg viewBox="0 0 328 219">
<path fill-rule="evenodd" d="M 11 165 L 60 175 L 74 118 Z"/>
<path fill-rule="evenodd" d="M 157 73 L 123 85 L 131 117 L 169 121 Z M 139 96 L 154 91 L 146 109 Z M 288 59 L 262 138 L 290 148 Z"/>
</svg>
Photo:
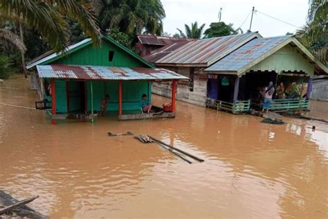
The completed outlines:
<svg viewBox="0 0 328 219">
<path fill-rule="evenodd" d="M 237 34 L 237 31 L 233 28 L 233 24 L 226 24 L 222 21 L 211 23 L 210 28 L 204 32 L 205 38 L 223 37 L 233 34 Z"/>
</svg>

